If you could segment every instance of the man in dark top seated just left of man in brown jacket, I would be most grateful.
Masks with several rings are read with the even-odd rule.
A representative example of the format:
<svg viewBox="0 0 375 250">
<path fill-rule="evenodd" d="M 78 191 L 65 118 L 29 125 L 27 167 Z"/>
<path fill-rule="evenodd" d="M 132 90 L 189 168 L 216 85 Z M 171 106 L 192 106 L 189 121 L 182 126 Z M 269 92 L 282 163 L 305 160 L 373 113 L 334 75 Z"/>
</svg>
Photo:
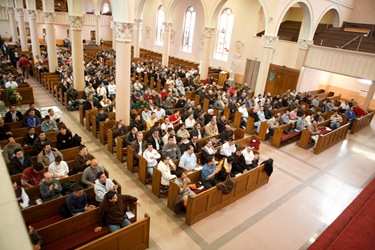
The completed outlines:
<svg viewBox="0 0 375 250">
<path fill-rule="evenodd" d="M 73 193 L 66 198 L 66 205 L 73 216 L 95 209 L 94 205 L 89 205 L 86 192 L 78 185 L 74 188 Z"/>
</svg>

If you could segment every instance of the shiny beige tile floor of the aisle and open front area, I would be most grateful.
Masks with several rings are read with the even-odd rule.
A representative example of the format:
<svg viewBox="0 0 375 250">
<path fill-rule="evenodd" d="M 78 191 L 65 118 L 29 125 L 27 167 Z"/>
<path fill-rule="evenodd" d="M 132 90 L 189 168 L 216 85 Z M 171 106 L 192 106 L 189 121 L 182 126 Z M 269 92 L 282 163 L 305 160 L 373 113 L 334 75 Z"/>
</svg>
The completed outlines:
<svg viewBox="0 0 375 250">
<path fill-rule="evenodd" d="M 264 142 L 261 158 L 275 163 L 269 183 L 189 227 L 79 124 L 78 112 L 67 112 L 38 83 L 29 83 L 37 106 L 60 107 L 64 122 L 123 192 L 140 199 L 138 218 L 151 217 L 150 249 L 306 249 L 375 176 L 374 121 L 319 155 L 295 144 L 276 149 Z"/>
</svg>

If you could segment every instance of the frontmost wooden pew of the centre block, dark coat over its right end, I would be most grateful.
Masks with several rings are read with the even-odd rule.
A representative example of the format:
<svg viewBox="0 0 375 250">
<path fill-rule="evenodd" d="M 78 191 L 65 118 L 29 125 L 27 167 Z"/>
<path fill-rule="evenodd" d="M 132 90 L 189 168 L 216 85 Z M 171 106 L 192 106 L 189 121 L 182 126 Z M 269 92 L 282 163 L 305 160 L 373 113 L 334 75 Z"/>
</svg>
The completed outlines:
<svg viewBox="0 0 375 250">
<path fill-rule="evenodd" d="M 201 171 L 193 172 L 187 177 L 196 182 L 201 178 Z M 204 219 L 210 214 L 240 199 L 248 193 L 268 183 L 269 177 L 264 170 L 264 165 L 260 165 L 242 175 L 236 176 L 236 185 L 232 192 L 224 195 L 217 187 L 210 188 L 199 193 L 195 197 L 188 197 L 186 207 L 185 222 L 189 226 Z M 174 211 L 173 203 L 178 195 L 178 186 L 171 181 L 168 191 L 167 206 Z"/>
</svg>

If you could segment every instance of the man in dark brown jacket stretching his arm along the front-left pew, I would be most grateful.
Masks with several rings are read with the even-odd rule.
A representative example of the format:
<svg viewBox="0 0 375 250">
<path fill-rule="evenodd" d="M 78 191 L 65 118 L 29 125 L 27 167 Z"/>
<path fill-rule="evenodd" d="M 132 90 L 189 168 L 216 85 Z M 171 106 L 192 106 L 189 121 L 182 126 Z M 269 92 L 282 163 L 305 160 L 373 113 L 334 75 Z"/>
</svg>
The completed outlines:
<svg viewBox="0 0 375 250">
<path fill-rule="evenodd" d="M 126 216 L 126 211 L 129 206 L 127 206 L 126 203 L 135 203 L 138 206 L 141 205 L 136 197 L 116 194 L 114 191 L 109 191 L 100 204 L 99 226 L 95 228 L 95 232 L 100 232 L 105 225 L 108 226 L 111 232 L 115 232 L 130 225 L 131 222 Z"/>
</svg>

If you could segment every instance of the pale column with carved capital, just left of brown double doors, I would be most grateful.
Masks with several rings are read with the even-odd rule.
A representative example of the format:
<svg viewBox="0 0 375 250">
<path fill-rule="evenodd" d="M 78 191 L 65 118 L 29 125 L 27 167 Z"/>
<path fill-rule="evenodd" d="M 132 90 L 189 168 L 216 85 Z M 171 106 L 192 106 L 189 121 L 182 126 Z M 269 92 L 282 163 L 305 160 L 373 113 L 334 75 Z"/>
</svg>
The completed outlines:
<svg viewBox="0 0 375 250">
<path fill-rule="evenodd" d="M 262 59 L 259 65 L 258 78 L 255 86 L 255 95 L 263 94 L 266 86 L 266 80 L 268 76 L 268 69 L 272 60 L 275 43 L 278 39 L 277 36 L 266 36 L 262 37 L 264 42 Z"/>
</svg>

